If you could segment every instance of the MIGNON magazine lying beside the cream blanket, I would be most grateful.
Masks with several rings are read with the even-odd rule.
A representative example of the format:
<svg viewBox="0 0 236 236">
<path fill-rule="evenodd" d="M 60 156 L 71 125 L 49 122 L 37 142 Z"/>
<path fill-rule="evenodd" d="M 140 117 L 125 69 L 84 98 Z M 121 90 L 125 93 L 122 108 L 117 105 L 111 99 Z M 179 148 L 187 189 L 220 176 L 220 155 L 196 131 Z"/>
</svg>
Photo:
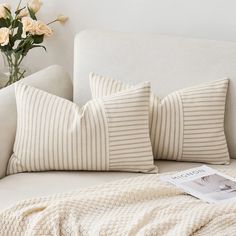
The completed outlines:
<svg viewBox="0 0 236 236">
<path fill-rule="evenodd" d="M 161 179 L 208 203 L 236 201 L 236 179 L 206 165 Z"/>
</svg>

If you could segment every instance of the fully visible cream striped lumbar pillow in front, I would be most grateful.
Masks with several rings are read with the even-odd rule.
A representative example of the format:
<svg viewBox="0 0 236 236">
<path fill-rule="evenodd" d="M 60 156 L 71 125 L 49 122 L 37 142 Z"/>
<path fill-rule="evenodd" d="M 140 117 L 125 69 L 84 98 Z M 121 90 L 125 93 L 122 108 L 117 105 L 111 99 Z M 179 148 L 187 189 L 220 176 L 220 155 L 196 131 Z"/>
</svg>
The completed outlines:
<svg viewBox="0 0 236 236">
<path fill-rule="evenodd" d="M 8 174 L 91 170 L 157 172 L 148 117 L 150 85 L 77 104 L 18 83 L 17 133 Z"/>
</svg>

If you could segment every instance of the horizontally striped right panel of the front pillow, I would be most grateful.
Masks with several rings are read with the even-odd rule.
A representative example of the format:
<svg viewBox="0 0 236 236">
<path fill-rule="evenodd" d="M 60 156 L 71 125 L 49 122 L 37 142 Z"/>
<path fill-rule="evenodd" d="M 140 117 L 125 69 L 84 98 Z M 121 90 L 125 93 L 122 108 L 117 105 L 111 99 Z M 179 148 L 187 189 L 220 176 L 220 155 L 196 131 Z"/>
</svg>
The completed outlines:
<svg viewBox="0 0 236 236">
<path fill-rule="evenodd" d="M 140 92 L 142 91 L 142 95 Z M 138 95 L 140 94 L 140 95 Z M 122 102 L 121 102 L 122 101 Z M 109 131 L 110 169 L 150 169 L 152 147 L 149 136 L 150 87 L 125 90 L 104 98 Z"/>
</svg>

